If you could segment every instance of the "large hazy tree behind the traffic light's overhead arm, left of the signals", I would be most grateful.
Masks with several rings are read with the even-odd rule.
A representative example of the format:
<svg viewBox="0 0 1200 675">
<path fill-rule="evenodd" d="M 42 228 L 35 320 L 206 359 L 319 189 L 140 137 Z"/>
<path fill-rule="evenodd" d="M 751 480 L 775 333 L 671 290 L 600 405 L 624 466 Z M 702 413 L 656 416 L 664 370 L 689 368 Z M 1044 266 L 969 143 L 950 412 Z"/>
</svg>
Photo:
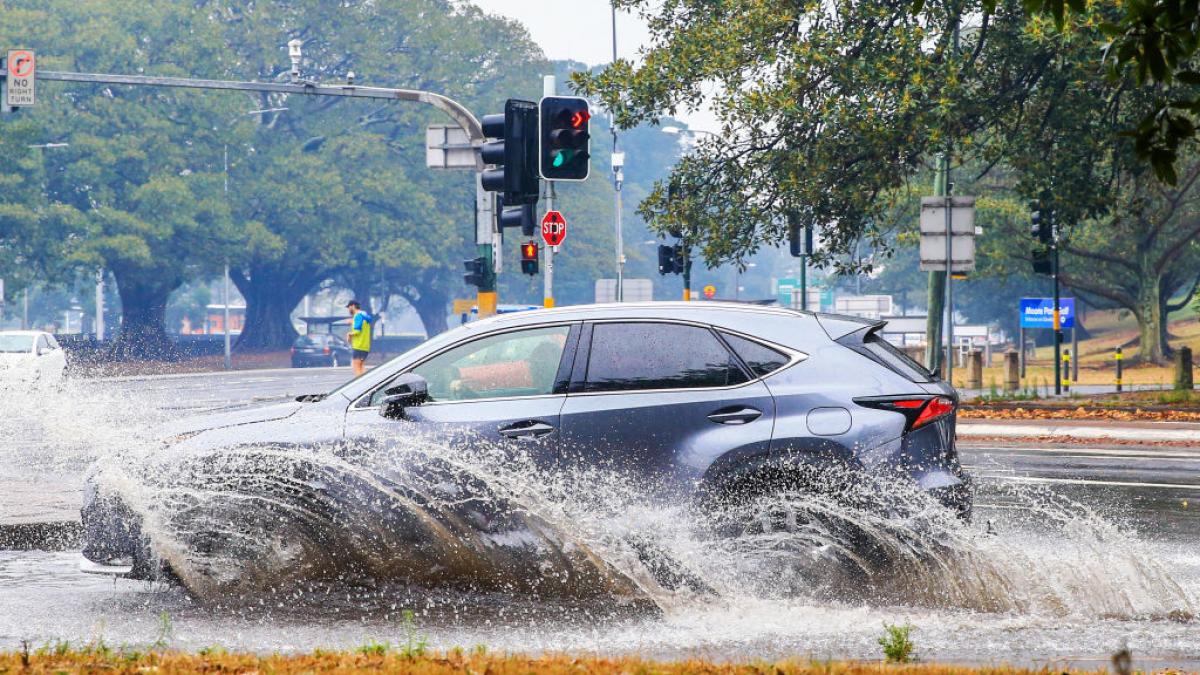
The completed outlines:
<svg viewBox="0 0 1200 675">
<path fill-rule="evenodd" d="M 438 91 L 482 113 L 500 109 L 508 96 L 533 97 L 540 91 L 534 73 L 546 72 L 520 25 L 468 4 L 211 5 L 236 53 L 216 62 L 214 77 L 284 78 L 280 47 L 298 38 L 306 77 L 337 82 L 353 71 L 360 84 Z M 248 305 L 238 348 L 289 344 L 292 307 L 334 275 L 355 287 L 391 279 L 431 331 L 440 329 L 457 286 L 446 279 L 461 259 L 450 251 L 474 240 L 473 184 L 424 178 L 424 126 L 445 118 L 413 103 L 334 98 L 263 95 L 252 107 L 288 109 L 259 115 L 253 142 L 238 148 L 234 161 L 245 196 L 234 202 L 236 216 L 263 223 L 266 234 L 247 243 L 235 276 Z M 282 179 L 290 183 L 276 183 Z"/>
</svg>

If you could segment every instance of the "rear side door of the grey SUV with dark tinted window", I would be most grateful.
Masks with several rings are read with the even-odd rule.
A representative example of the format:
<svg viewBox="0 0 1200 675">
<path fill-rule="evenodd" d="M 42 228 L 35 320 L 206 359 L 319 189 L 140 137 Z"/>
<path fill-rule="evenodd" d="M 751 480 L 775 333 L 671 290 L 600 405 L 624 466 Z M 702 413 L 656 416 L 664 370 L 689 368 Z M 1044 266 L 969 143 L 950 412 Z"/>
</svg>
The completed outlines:
<svg viewBox="0 0 1200 675">
<path fill-rule="evenodd" d="M 718 458 L 770 446 L 770 392 L 707 325 L 589 323 L 569 389 L 569 461 L 691 485 Z"/>
</svg>

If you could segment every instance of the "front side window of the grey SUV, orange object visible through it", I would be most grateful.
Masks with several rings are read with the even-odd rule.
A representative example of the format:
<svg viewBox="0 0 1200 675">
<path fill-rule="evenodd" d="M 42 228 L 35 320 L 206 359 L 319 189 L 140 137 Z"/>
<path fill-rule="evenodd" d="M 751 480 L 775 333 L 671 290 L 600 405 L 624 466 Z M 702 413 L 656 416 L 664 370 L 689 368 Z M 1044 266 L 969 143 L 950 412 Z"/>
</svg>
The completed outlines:
<svg viewBox="0 0 1200 675">
<path fill-rule="evenodd" d="M 563 358 L 570 325 L 502 333 L 473 340 L 409 370 L 428 382 L 432 401 L 467 401 L 554 393 L 554 376 Z M 379 405 L 388 389 L 371 395 Z"/>
</svg>

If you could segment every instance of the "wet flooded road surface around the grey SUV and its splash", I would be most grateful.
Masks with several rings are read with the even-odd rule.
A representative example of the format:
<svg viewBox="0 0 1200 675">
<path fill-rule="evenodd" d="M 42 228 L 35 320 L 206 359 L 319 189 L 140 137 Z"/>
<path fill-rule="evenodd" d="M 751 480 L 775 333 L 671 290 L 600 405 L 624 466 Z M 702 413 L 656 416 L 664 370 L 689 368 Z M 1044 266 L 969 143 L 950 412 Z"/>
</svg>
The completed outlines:
<svg viewBox="0 0 1200 675">
<path fill-rule="evenodd" d="M 100 380 L 58 394 L 10 396 L 0 401 L 8 413 L 0 429 L 0 531 L 5 522 L 29 530 L 76 521 L 86 466 L 97 453 L 119 452 L 140 424 L 323 392 L 348 375 L 313 369 Z M 412 589 L 323 590 L 317 599 L 241 598 L 244 604 L 214 608 L 178 589 L 79 574 L 67 537 L 44 546 L 61 550 L 0 550 L 0 649 L 23 639 L 144 646 L 158 639 L 163 614 L 173 626 L 169 644 L 181 649 L 397 644 L 404 640 L 397 613 L 415 609 L 438 649 L 878 658 L 881 626 L 911 622 L 919 655 L 930 661 L 1094 667 L 1128 644 L 1135 667 L 1195 669 L 1200 448 L 1094 441 L 964 436 L 962 461 L 979 488 L 976 522 L 923 544 L 911 568 L 892 571 L 904 577 L 886 596 L 809 592 L 796 587 L 794 572 L 764 581 L 756 574 L 778 562 L 778 551 L 760 560 L 762 550 L 733 549 L 730 557 L 719 543 L 688 534 L 662 544 L 702 569 L 715 560 L 704 574 L 720 597 L 677 599 L 650 616 Z M 608 516 L 594 514 L 575 534 L 600 545 L 630 518 L 647 531 L 679 527 L 673 512 L 618 513 L 617 530 L 606 530 Z"/>
</svg>

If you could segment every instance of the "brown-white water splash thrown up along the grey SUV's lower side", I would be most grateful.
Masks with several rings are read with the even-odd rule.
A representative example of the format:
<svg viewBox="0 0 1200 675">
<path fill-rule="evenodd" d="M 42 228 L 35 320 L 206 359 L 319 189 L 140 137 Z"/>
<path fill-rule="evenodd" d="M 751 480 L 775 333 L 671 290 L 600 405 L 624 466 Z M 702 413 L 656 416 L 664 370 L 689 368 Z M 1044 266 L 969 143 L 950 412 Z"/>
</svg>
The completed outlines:
<svg viewBox="0 0 1200 675">
<path fill-rule="evenodd" d="M 1009 515 L 991 532 L 895 483 L 859 486 L 888 508 L 784 492 L 714 516 L 652 500 L 644 480 L 618 472 L 547 470 L 467 440 L 125 453 L 103 474 L 184 584 L 222 602 L 398 583 L 668 615 L 770 599 L 1081 619 L 1195 611 L 1133 532 L 1032 488 L 1007 490 Z"/>
</svg>

